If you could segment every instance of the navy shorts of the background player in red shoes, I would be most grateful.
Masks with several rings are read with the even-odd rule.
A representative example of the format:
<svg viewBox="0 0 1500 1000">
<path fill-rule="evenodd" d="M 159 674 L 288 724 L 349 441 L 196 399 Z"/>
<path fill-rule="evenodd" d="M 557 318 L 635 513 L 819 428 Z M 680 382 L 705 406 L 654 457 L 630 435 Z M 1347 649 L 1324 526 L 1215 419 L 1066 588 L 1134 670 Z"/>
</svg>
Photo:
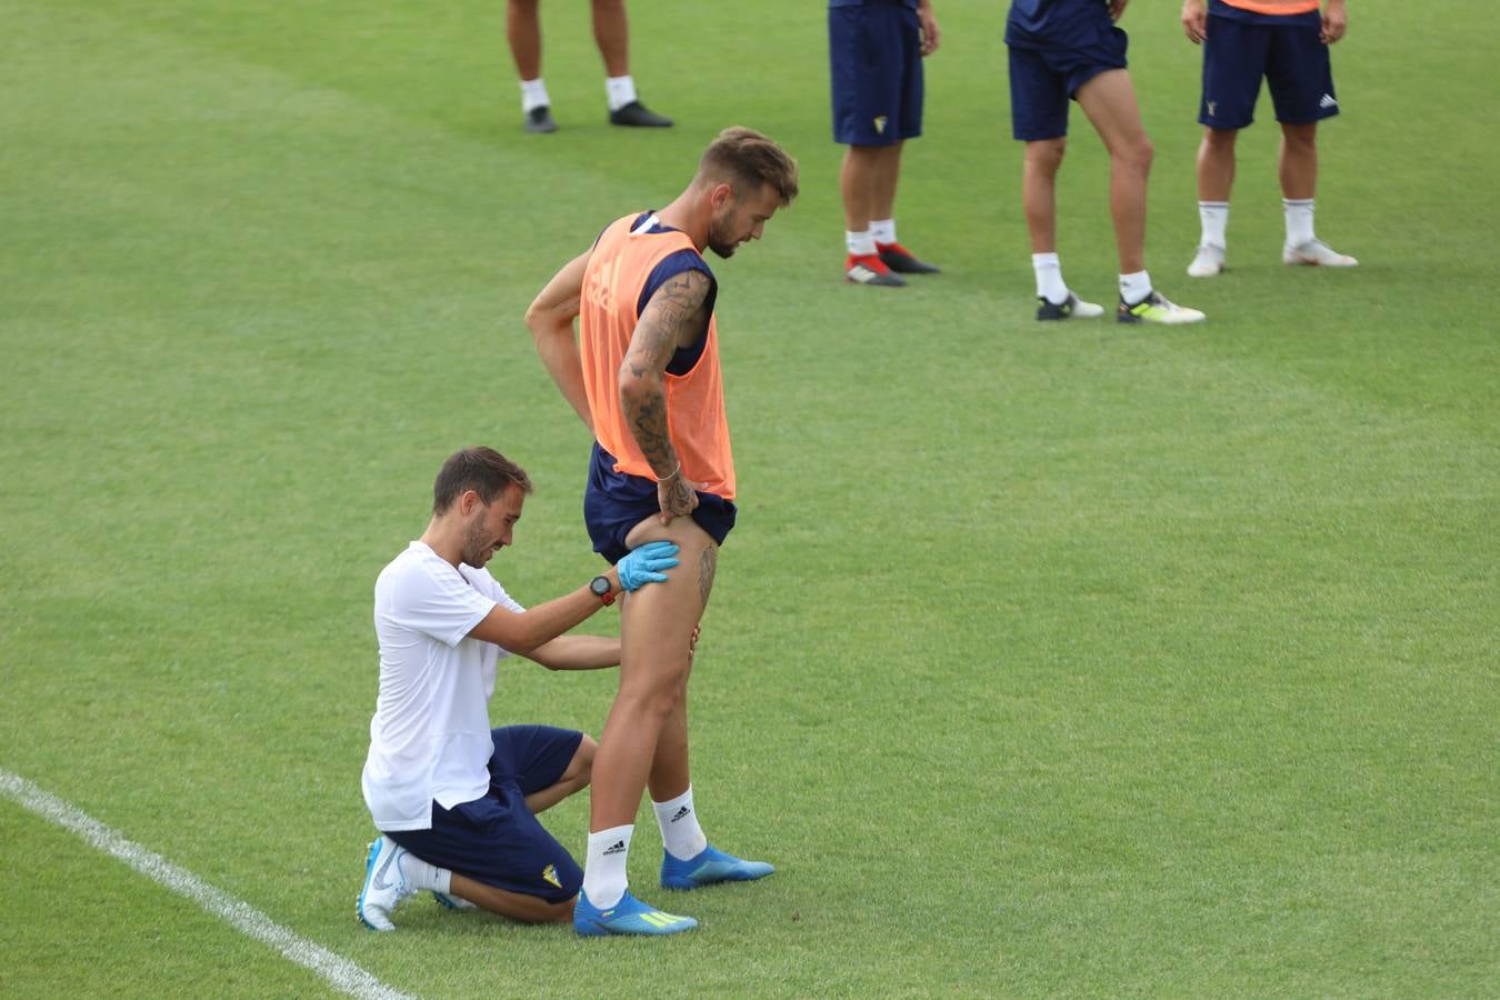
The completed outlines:
<svg viewBox="0 0 1500 1000">
<path fill-rule="evenodd" d="M 900 0 L 828 7 L 834 142 L 896 145 L 922 133 L 920 24 Z"/>
</svg>

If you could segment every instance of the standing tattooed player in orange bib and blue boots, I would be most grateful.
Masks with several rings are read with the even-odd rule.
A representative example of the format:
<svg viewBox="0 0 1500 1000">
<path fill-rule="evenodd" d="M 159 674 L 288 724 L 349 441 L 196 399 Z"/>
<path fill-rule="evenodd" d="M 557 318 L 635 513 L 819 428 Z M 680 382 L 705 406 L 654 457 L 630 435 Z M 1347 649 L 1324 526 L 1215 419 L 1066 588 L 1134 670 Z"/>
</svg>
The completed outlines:
<svg viewBox="0 0 1500 1000">
<path fill-rule="evenodd" d="M 752 129 L 724 129 L 687 190 L 660 211 L 612 222 L 526 310 L 548 373 L 594 432 L 584 495 L 594 549 L 615 562 L 651 541 L 672 541 L 687 570 L 632 595 L 621 610 L 620 691 L 594 760 L 584 891 L 573 912 L 579 934 L 675 934 L 698 924 L 628 892 L 626 856 L 646 789 L 666 847 L 663 888 L 772 871 L 714 850 L 699 826 L 687 681 L 692 636 L 736 513 L 714 321 L 718 286 L 702 250 L 728 258 L 759 240 L 794 196 L 796 163 L 780 145 Z"/>
</svg>

